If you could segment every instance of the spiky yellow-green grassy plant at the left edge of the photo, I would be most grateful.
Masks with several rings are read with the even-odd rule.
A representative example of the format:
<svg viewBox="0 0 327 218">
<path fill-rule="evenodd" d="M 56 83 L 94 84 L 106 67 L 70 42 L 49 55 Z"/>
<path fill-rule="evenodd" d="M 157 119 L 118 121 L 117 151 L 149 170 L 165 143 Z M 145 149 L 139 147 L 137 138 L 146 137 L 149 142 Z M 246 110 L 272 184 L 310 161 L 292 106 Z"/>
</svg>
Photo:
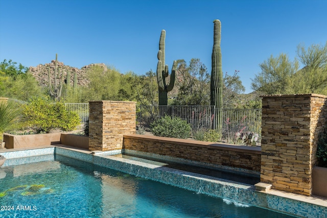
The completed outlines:
<svg viewBox="0 0 327 218">
<path fill-rule="evenodd" d="M 4 140 L 5 132 L 24 126 L 20 108 L 12 101 L 0 102 L 0 146 Z"/>
</svg>

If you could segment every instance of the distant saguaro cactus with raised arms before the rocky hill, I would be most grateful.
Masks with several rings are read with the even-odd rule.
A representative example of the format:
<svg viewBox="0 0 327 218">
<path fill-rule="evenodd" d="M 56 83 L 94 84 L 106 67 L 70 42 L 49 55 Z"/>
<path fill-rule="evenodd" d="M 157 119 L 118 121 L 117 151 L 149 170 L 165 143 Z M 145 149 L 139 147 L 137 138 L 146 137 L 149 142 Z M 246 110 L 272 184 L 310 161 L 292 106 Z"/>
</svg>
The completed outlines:
<svg viewBox="0 0 327 218">
<path fill-rule="evenodd" d="M 58 55 L 56 54 L 56 62 L 55 62 L 55 84 L 54 86 L 51 83 L 51 77 L 50 77 L 50 66 L 48 69 L 48 78 L 49 78 L 49 92 L 50 95 L 52 96 L 52 98 L 56 101 L 60 100 L 61 98 L 61 91 L 62 91 L 62 85 L 63 85 L 63 72 L 61 73 L 61 78 L 59 78 L 60 75 L 60 69 L 58 67 Z M 59 85 L 58 85 L 58 81 L 59 81 Z"/>
</svg>

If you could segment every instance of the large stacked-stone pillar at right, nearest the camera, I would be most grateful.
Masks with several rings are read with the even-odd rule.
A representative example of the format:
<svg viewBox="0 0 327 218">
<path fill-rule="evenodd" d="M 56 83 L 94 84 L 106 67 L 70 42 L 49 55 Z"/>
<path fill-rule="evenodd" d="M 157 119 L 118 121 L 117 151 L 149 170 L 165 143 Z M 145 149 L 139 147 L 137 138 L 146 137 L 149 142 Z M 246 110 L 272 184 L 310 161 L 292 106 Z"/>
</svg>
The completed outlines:
<svg viewBox="0 0 327 218">
<path fill-rule="evenodd" d="M 327 96 L 262 96 L 261 182 L 312 195 L 318 135 L 326 123 Z"/>
</svg>

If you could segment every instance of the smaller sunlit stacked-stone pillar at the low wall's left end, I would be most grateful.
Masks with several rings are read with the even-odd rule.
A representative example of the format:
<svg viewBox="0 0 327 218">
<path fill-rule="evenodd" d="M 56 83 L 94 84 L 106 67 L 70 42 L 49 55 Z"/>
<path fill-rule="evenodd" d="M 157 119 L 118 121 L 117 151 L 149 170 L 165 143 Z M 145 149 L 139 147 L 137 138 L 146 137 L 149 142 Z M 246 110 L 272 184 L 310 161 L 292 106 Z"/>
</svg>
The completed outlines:
<svg viewBox="0 0 327 218">
<path fill-rule="evenodd" d="M 89 110 L 90 151 L 120 150 L 136 132 L 136 102 L 90 101 Z"/>
</svg>

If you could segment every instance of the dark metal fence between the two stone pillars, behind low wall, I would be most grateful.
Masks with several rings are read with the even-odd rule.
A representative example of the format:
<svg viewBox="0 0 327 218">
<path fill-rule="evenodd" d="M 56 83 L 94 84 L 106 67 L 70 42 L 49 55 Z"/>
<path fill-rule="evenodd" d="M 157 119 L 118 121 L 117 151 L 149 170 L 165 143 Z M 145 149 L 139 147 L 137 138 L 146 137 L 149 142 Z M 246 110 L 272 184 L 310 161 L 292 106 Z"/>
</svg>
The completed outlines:
<svg viewBox="0 0 327 218">
<path fill-rule="evenodd" d="M 193 130 L 214 129 L 214 110 L 220 110 L 223 118 L 222 133 L 225 137 L 237 132 L 261 134 L 261 109 L 215 109 L 214 106 L 145 106 L 136 113 L 137 125 L 150 128 L 154 120 L 169 115 L 186 120 Z M 217 111 L 218 112 L 218 111 Z"/>
</svg>

